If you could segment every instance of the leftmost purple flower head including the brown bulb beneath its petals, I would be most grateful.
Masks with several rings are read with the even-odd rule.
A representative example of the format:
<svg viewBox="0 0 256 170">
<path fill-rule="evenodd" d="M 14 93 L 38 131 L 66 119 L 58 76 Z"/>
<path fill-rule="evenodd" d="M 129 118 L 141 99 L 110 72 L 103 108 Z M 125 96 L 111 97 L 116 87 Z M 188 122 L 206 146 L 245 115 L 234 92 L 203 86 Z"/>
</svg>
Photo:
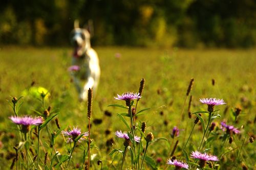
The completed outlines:
<svg viewBox="0 0 256 170">
<path fill-rule="evenodd" d="M 30 131 L 30 125 L 40 125 L 42 124 L 41 118 L 32 118 L 32 116 L 24 116 L 24 117 L 17 117 L 11 116 L 9 117 L 13 123 L 22 125 L 22 132 L 28 133 Z"/>
</svg>

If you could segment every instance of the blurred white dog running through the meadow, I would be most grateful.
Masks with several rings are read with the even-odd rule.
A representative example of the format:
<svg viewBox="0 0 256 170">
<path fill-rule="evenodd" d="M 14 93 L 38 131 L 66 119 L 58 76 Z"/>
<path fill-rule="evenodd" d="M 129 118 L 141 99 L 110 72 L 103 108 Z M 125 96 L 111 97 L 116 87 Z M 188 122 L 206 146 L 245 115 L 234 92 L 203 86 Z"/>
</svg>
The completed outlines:
<svg viewBox="0 0 256 170">
<path fill-rule="evenodd" d="M 74 54 L 69 70 L 79 92 L 80 101 L 87 101 L 89 88 L 93 89 L 93 95 L 96 95 L 100 77 L 98 55 L 91 48 L 90 23 L 88 29 L 81 29 L 79 21 L 75 20 L 74 30 L 70 33 Z"/>
</svg>

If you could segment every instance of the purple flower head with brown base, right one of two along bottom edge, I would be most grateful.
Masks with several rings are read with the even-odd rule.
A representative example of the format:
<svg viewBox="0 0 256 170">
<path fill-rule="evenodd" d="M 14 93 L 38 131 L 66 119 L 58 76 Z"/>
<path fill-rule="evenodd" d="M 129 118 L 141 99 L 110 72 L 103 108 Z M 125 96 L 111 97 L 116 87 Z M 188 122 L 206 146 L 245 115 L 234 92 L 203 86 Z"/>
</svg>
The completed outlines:
<svg viewBox="0 0 256 170">
<path fill-rule="evenodd" d="M 192 154 L 190 155 L 192 156 L 191 158 L 196 158 L 196 159 L 200 159 L 199 161 L 199 166 L 201 168 L 203 168 L 205 165 L 206 165 L 206 161 L 219 161 L 218 157 L 217 156 L 211 156 L 211 155 L 208 155 L 207 153 L 201 153 L 201 152 L 193 152 L 192 151 Z"/>
</svg>

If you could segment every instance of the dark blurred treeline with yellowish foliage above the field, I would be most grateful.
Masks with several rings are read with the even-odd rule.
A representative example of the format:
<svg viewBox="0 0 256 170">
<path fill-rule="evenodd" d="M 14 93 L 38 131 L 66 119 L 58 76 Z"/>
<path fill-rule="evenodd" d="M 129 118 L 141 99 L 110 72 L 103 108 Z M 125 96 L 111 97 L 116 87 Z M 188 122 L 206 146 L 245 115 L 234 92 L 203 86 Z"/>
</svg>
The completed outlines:
<svg viewBox="0 0 256 170">
<path fill-rule="evenodd" d="M 254 0 L 0 1 L 0 44 L 63 46 L 75 19 L 92 45 L 254 47 Z"/>
</svg>

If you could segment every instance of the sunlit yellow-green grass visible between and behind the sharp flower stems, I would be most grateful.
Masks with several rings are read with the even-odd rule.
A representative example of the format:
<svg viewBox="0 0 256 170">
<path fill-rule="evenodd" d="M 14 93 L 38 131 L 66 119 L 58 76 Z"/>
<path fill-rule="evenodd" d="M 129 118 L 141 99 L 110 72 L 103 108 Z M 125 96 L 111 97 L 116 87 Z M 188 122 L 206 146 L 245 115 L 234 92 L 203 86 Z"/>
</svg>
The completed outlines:
<svg viewBox="0 0 256 170">
<path fill-rule="evenodd" d="M 191 111 L 206 110 L 207 105 L 201 104 L 199 98 L 220 98 L 227 105 L 216 106 L 216 109 L 221 109 L 219 114 L 221 118 L 217 118 L 215 122 L 220 125 L 224 119 L 228 120 L 228 124 L 233 124 L 229 110 L 232 108 L 241 107 L 245 116 L 239 117 L 236 123 L 237 127 L 249 131 L 250 134 L 256 133 L 253 124 L 256 115 L 255 109 L 255 64 L 256 50 L 183 50 L 177 48 L 152 49 L 152 48 L 134 48 L 134 47 L 96 47 L 101 67 L 101 77 L 96 98 L 93 100 L 92 121 L 94 118 L 102 118 L 101 125 L 92 125 L 92 138 L 95 139 L 95 144 L 100 149 L 92 150 L 92 154 L 97 154 L 92 161 L 93 166 L 98 168 L 96 162 L 98 159 L 103 160 L 103 166 L 108 166 L 106 160 L 111 161 L 112 157 L 107 156 L 109 151 L 106 151 L 105 142 L 107 139 L 114 137 L 115 144 L 113 147 L 119 149 L 122 145 L 122 140 L 117 139 L 113 132 L 117 130 L 127 131 L 126 126 L 121 123 L 116 113 L 123 113 L 121 108 L 108 107 L 111 104 L 125 105 L 124 101 L 114 100 L 114 96 L 127 91 L 138 92 L 139 83 L 142 78 L 145 79 L 145 88 L 143 97 L 139 102 L 138 110 L 144 108 L 152 108 L 148 110 L 148 114 L 141 115 L 135 121 L 147 122 L 148 128 L 146 133 L 153 132 L 155 138 L 165 137 L 172 142 L 169 133 L 174 126 L 177 126 L 181 109 L 185 100 L 186 90 L 191 78 L 195 78 L 193 89 L 190 94 L 193 94 L 193 106 Z M 120 59 L 114 57 L 115 53 L 122 54 Z M 13 111 L 6 100 L 10 101 L 11 96 L 19 97 L 22 91 L 29 89 L 32 81 L 34 86 L 45 87 L 49 90 L 51 96 L 46 102 L 51 105 L 56 112 L 60 112 L 58 118 L 61 126 L 78 126 L 82 131 L 88 131 L 87 119 L 87 103 L 78 102 L 78 94 L 74 85 L 70 82 L 70 75 L 67 68 L 70 66 L 72 49 L 71 48 L 34 48 L 34 47 L 2 47 L 0 50 L 0 141 L 4 143 L 0 150 L 0 154 L 7 154 L 7 150 L 14 151 L 13 146 L 18 143 L 18 133 L 14 130 L 16 126 L 11 123 L 8 116 L 13 115 Z M 212 79 L 216 79 L 217 84 L 211 84 Z M 160 91 L 161 93 L 158 93 Z M 36 99 L 22 98 L 20 101 L 25 101 L 19 111 L 19 115 L 32 114 L 36 115 L 32 109 L 42 112 L 43 109 Z M 188 104 L 188 101 L 187 101 Z M 180 124 L 180 129 L 186 129 L 186 139 L 190 133 L 190 129 L 194 126 L 194 118 L 188 120 L 187 104 L 184 110 L 184 116 Z M 228 106 L 228 112 L 224 115 L 224 110 Z M 113 113 L 112 117 L 104 116 L 104 111 L 109 110 Z M 164 112 L 161 116 L 160 111 Z M 207 115 L 203 116 L 204 122 L 207 122 Z M 129 121 L 126 118 L 127 122 Z M 167 126 L 163 125 L 164 120 L 169 120 Z M 56 129 L 54 121 L 51 123 L 51 129 Z M 111 129 L 110 135 L 105 135 L 104 131 Z M 218 131 L 222 133 L 222 131 Z M 44 133 L 44 132 L 43 132 Z M 180 144 L 176 152 L 181 154 L 183 149 L 184 131 L 181 132 Z M 13 139 L 10 135 L 14 134 Z M 202 139 L 202 131 L 199 126 L 196 126 L 189 140 L 187 147 L 188 154 L 194 151 L 200 145 Z M 244 135 L 244 134 L 243 134 Z M 46 136 L 43 134 L 43 136 Z M 238 137 L 238 135 L 237 135 Z M 248 138 L 248 136 L 247 136 Z M 58 136 L 56 148 L 62 154 L 65 153 L 65 145 L 63 138 Z M 42 139 L 43 143 L 47 142 Z M 247 139 L 246 139 L 247 141 Z M 153 146 L 150 146 L 148 155 L 152 155 L 156 161 L 157 157 L 161 157 L 163 162 L 158 164 L 159 169 L 162 169 L 168 152 L 168 143 L 158 141 Z M 86 143 L 82 143 L 87 147 Z M 215 144 L 212 148 L 212 154 L 220 154 L 219 147 L 222 142 Z M 228 145 L 228 144 L 227 144 Z M 231 148 L 236 148 L 236 144 L 232 143 Z M 256 155 L 254 152 L 255 143 L 248 144 L 242 151 L 243 157 L 248 160 L 246 165 L 250 168 L 255 168 Z M 194 150 L 193 150 L 194 149 Z M 81 164 L 81 151 L 77 152 L 74 157 Z M 130 155 L 130 154 L 129 154 Z M 232 152 L 227 155 L 226 160 L 220 162 L 220 169 L 232 169 L 234 161 L 237 160 L 237 152 Z M 233 158 L 234 157 L 234 158 Z M 248 159 L 250 158 L 250 159 Z M 6 160 L 4 157 L 0 157 Z M 120 158 L 116 159 L 118 162 Z M 183 159 L 185 160 L 185 159 Z M 71 159 L 72 161 L 72 159 Z M 193 161 L 193 159 L 190 159 Z M 0 161 L 0 166 L 11 165 L 11 160 Z M 115 163 L 115 166 L 117 165 Z M 124 165 L 130 165 L 130 158 L 126 158 Z M 226 163 L 225 163 L 226 162 Z M 125 167 L 125 166 L 124 166 Z M 239 162 L 241 169 L 241 157 Z"/>
</svg>

